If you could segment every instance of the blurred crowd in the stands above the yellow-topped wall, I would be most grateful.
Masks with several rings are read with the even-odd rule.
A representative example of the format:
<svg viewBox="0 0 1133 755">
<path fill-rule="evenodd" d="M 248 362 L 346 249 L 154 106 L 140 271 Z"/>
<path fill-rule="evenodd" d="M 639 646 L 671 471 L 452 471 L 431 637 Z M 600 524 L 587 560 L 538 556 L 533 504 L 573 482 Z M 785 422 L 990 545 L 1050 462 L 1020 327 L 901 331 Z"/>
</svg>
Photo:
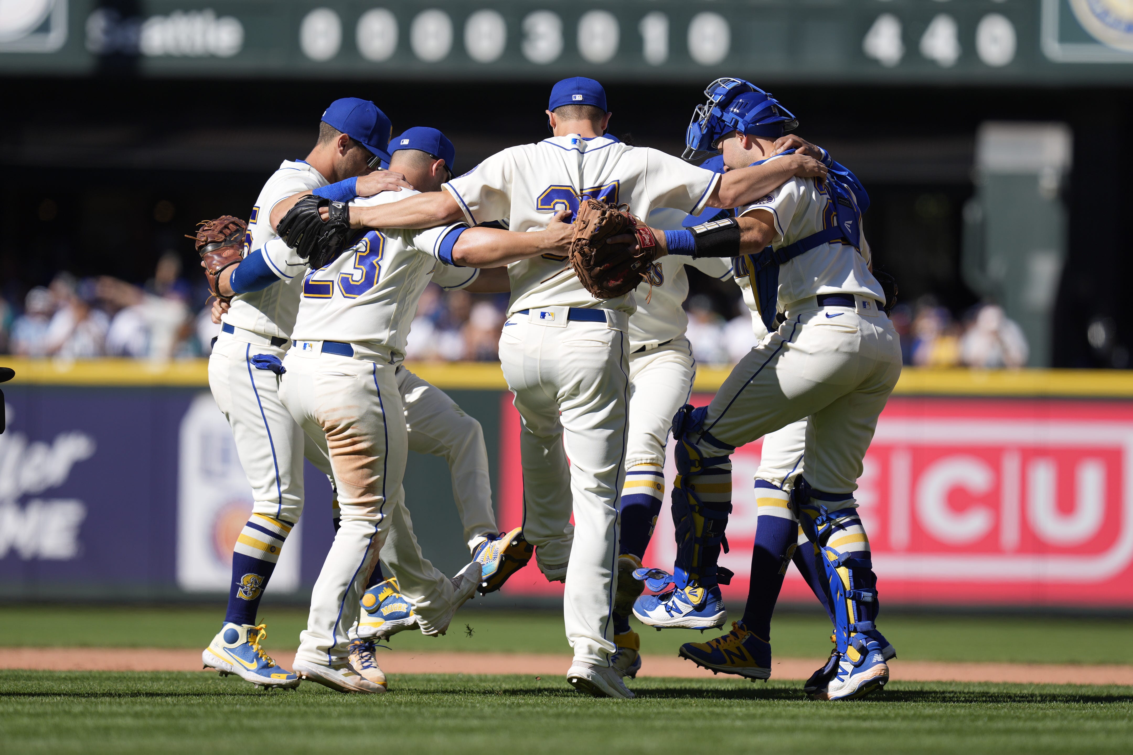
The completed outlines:
<svg viewBox="0 0 1133 755">
<path fill-rule="evenodd" d="M 90 359 L 130 357 L 164 361 L 207 357 L 220 326 L 212 323 L 203 280 L 181 275 L 180 257 L 161 256 L 144 285 L 109 276 L 60 273 L 27 292 L 23 306 L 0 298 L 0 353 Z M 417 361 L 495 361 L 506 294 L 442 292 L 429 284 L 420 299 L 406 351 Z M 751 314 L 739 298 L 725 303 L 689 298 L 688 337 L 701 364 L 734 364 L 752 346 Z M 959 319 L 932 297 L 898 304 L 891 314 L 906 364 L 1015 368 L 1026 363 L 1022 328 L 1000 307 L 982 303 Z"/>
</svg>

